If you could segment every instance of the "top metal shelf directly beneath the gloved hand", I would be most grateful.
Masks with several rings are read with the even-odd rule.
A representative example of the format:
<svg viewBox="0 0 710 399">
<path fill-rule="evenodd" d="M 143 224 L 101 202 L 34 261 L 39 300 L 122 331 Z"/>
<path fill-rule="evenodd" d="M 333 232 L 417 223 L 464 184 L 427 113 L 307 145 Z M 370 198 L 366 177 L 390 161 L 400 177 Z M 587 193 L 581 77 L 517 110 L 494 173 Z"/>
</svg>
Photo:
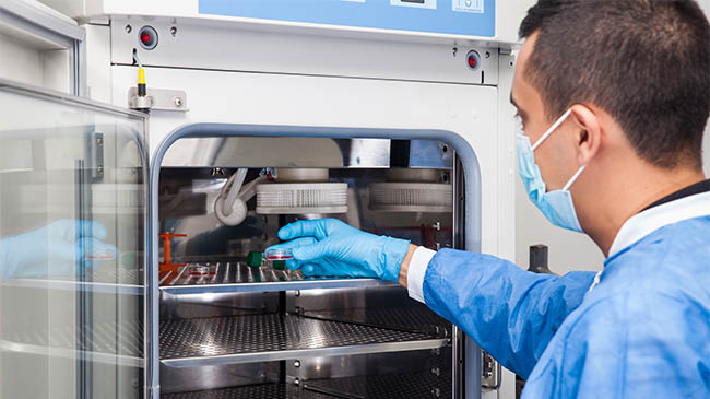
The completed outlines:
<svg viewBox="0 0 710 399">
<path fill-rule="evenodd" d="M 202 265 L 202 263 L 201 263 Z M 187 268 L 161 275 L 161 291 L 171 295 L 223 292 L 274 292 L 391 284 L 378 279 L 305 278 L 299 271 L 250 268 L 241 262 L 204 263 L 214 275 L 190 275 Z"/>
</svg>

